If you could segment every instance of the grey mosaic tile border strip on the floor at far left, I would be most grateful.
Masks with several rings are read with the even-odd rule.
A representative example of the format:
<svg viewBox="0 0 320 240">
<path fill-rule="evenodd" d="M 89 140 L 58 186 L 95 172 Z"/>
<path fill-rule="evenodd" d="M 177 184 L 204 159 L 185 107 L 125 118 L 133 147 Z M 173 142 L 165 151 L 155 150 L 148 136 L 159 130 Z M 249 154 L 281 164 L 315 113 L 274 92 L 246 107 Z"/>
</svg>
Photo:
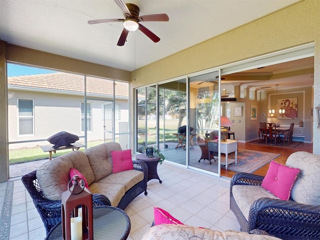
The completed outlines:
<svg viewBox="0 0 320 240">
<path fill-rule="evenodd" d="M 1 226 L 0 226 L 0 239 L 8 240 L 10 235 L 10 221 L 11 221 L 11 206 L 13 199 L 13 184 L 14 181 L 7 181 L 5 188 L 5 196 L 3 199 L 3 206 L 1 212 Z"/>
</svg>

